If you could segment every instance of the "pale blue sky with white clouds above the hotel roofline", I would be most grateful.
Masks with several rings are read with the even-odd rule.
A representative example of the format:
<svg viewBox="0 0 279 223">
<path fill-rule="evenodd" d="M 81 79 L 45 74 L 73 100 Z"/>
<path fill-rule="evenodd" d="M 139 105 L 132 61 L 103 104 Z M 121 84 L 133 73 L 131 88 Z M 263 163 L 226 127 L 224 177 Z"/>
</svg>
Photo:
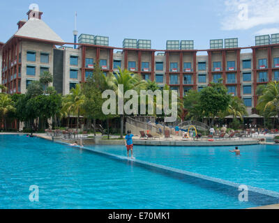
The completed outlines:
<svg viewBox="0 0 279 223">
<path fill-rule="evenodd" d="M 152 49 L 165 49 L 166 40 L 194 40 L 195 49 L 209 49 L 209 40 L 219 38 L 239 38 L 239 47 L 248 47 L 255 36 L 279 33 L 279 0 L 1 0 L 1 42 L 13 36 L 19 20 L 27 20 L 31 3 L 70 43 L 75 12 L 79 35 L 109 36 L 114 47 L 122 47 L 124 38 L 151 40 Z"/>
</svg>

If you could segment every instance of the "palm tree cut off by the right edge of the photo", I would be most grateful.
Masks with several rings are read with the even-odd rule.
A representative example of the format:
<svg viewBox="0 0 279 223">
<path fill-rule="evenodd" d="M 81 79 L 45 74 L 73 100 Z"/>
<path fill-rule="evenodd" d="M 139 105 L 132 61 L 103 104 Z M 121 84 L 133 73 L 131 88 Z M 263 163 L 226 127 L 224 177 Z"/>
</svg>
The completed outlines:
<svg viewBox="0 0 279 223">
<path fill-rule="evenodd" d="M 262 94 L 259 96 L 257 109 L 265 112 L 266 109 L 276 112 L 279 117 L 279 82 L 269 82 L 262 87 Z"/>
</svg>

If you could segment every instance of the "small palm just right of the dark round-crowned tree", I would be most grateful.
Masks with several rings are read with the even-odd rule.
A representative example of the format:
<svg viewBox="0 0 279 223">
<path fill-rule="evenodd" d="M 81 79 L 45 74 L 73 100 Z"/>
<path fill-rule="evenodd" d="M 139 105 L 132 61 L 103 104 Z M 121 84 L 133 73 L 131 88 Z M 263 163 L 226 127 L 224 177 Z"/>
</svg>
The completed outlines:
<svg viewBox="0 0 279 223">
<path fill-rule="evenodd" d="M 243 116 L 247 114 L 246 106 L 244 105 L 243 100 L 239 97 L 232 97 L 229 107 L 227 108 L 227 114 L 232 115 L 233 119 L 239 116 L 242 121 Z"/>
</svg>

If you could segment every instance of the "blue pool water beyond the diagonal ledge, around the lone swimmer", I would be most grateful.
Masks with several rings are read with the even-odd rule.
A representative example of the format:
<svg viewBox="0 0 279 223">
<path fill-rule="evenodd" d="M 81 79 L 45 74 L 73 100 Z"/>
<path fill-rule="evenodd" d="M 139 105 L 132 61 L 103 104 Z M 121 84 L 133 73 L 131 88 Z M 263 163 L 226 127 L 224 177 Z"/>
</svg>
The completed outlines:
<svg viewBox="0 0 279 223">
<path fill-rule="evenodd" d="M 123 146 L 91 146 L 98 151 L 125 155 Z M 135 146 L 137 160 L 174 167 L 279 192 L 279 146 L 239 146 L 241 155 L 230 153 L 234 146 Z"/>
</svg>

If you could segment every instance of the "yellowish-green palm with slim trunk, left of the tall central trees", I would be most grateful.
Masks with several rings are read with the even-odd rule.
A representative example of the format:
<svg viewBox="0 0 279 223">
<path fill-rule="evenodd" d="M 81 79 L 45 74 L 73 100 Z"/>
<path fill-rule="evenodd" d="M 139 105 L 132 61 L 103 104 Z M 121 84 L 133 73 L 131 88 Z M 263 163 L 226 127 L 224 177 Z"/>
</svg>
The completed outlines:
<svg viewBox="0 0 279 223">
<path fill-rule="evenodd" d="M 83 104 L 85 96 L 82 94 L 80 84 L 75 86 L 75 89 L 70 90 L 70 95 L 64 99 L 63 107 L 61 111 L 67 112 L 68 116 L 70 113 L 77 115 L 77 130 L 80 125 L 80 114 L 83 112 Z"/>
</svg>

